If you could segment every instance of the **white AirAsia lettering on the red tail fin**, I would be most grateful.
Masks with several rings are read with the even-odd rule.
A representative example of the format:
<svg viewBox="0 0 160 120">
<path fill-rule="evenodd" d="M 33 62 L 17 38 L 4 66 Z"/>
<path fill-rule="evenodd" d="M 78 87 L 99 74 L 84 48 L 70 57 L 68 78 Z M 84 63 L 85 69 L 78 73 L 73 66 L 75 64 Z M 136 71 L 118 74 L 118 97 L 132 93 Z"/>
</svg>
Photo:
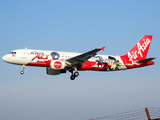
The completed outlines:
<svg viewBox="0 0 160 120">
<path fill-rule="evenodd" d="M 132 52 L 128 52 L 128 58 L 129 61 L 132 62 L 132 64 L 134 63 L 133 59 L 136 59 L 138 55 L 140 55 L 140 57 L 143 57 L 143 52 L 145 52 L 146 48 L 151 43 L 151 40 L 149 38 L 146 38 L 143 39 L 142 42 L 142 44 L 140 44 L 140 42 L 137 43 L 137 48 L 135 50 L 133 50 Z"/>
</svg>

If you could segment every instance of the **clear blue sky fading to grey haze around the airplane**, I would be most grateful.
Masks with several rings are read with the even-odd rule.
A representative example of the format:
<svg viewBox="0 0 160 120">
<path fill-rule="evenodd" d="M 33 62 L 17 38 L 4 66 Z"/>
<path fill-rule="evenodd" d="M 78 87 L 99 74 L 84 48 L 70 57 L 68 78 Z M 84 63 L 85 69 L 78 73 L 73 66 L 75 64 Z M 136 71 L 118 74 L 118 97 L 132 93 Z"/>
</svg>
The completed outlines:
<svg viewBox="0 0 160 120">
<path fill-rule="evenodd" d="M 0 61 L 0 119 L 87 120 L 145 107 L 160 108 L 160 1 L 0 1 L 0 56 L 14 49 L 124 55 L 153 35 L 155 65 L 118 72 L 46 75 L 45 68 Z"/>
</svg>

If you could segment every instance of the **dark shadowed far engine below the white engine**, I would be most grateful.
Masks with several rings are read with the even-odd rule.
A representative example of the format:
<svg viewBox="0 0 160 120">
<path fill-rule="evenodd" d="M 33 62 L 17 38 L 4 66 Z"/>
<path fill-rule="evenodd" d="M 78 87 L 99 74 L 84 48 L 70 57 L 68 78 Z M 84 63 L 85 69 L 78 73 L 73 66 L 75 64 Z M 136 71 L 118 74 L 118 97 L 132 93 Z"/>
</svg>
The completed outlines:
<svg viewBox="0 0 160 120">
<path fill-rule="evenodd" d="M 66 73 L 66 70 L 54 70 L 54 69 L 51 69 L 50 67 L 47 67 L 46 73 L 48 75 L 59 75 L 61 73 Z"/>
</svg>

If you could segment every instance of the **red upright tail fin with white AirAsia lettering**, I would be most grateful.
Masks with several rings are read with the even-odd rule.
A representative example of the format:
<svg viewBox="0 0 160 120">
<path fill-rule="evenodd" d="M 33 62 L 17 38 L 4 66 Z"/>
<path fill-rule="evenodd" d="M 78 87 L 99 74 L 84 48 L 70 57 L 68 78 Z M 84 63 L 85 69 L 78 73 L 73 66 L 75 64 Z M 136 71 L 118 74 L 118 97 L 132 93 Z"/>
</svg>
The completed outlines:
<svg viewBox="0 0 160 120">
<path fill-rule="evenodd" d="M 152 35 L 145 35 L 126 55 L 126 63 L 134 64 L 134 61 L 146 59 L 152 41 Z"/>
</svg>

